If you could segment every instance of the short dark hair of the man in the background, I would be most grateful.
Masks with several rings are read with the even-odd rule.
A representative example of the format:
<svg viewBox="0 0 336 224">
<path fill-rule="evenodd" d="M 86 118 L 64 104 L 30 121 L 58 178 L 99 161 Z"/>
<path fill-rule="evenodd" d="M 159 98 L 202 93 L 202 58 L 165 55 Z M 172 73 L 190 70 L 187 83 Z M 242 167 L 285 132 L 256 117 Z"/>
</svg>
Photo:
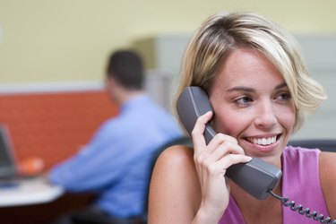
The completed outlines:
<svg viewBox="0 0 336 224">
<path fill-rule="evenodd" d="M 142 90 L 142 58 L 131 50 L 118 50 L 108 61 L 107 75 L 129 90 Z"/>
</svg>

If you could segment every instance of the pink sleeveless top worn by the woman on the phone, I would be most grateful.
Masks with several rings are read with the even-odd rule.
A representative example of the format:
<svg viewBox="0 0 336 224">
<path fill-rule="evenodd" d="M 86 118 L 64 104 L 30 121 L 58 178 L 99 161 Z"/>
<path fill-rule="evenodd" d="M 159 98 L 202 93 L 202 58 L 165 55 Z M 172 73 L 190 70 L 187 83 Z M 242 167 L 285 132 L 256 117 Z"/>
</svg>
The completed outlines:
<svg viewBox="0 0 336 224">
<path fill-rule="evenodd" d="M 319 150 L 308 150 L 287 146 L 282 153 L 282 196 L 289 201 L 302 204 L 304 209 L 317 211 L 318 215 L 329 216 L 319 177 Z M 307 165 L 309 164 L 309 165 Z M 267 211 L 265 211 L 267 212 Z M 317 222 L 313 219 L 292 211 L 282 205 L 282 220 L 284 224 Z M 220 224 L 246 223 L 237 203 L 230 196 L 228 209 L 224 212 Z"/>
</svg>

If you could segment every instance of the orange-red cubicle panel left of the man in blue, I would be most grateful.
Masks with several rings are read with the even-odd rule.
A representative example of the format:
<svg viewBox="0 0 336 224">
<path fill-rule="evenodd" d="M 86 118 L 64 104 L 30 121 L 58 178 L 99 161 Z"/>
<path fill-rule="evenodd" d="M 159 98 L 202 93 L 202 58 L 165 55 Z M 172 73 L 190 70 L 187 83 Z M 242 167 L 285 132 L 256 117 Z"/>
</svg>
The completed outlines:
<svg viewBox="0 0 336 224">
<path fill-rule="evenodd" d="M 103 90 L 0 95 L 0 123 L 17 159 L 39 157 L 45 169 L 73 155 L 117 113 Z"/>
</svg>

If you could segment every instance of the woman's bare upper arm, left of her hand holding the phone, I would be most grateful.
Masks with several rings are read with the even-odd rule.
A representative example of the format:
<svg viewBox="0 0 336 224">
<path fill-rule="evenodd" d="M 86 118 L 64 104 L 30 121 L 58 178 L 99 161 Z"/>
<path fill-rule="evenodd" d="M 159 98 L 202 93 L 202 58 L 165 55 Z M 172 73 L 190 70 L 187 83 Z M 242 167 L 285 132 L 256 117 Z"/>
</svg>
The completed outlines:
<svg viewBox="0 0 336 224">
<path fill-rule="evenodd" d="M 191 223 L 201 199 L 194 151 L 172 146 L 163 151 L 151 177 L 149 223 Z"/>
</svg>

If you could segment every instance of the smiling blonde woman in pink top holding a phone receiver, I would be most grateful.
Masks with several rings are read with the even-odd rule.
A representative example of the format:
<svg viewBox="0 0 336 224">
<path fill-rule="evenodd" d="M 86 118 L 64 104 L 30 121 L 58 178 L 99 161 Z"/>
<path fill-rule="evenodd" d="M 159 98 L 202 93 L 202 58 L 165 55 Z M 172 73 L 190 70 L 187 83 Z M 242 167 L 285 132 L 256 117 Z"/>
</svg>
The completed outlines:
<svg viewBox="0 0 336 224">
<path fill-rule="evenodd" d="M 259 201 L 224 177 L 252 157 L 282 170 L 274 193 L 336 219 L 336 154 L 287 146 L 306 112 L 326 98 L 289 33 L 254 13 L 211 16 L 185 52 L 177 97 L 187 86 L 207 92 L 213 113 L 197 119 L 194 151 L 179 145 L 160 155 L 150 223 L 316 223 L 274 197 Z M 208 122 L 218 134 L 206 144 Z"/>
</svg>

